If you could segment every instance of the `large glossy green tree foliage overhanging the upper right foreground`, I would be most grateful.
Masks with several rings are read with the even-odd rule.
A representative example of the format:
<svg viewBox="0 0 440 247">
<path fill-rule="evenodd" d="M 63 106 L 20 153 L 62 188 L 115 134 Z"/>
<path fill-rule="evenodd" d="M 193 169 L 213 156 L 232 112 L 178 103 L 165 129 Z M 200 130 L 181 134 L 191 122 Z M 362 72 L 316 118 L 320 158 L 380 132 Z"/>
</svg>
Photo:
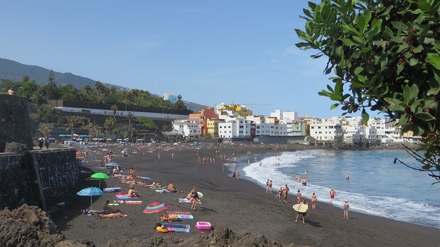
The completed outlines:
<svg viewBox="0 0 440 247">
<path fill-rule="evenodd" d="M 344 114 L 380 111 L 423 137 L 421 171 L 440 180 L 440 1 L 322 0 L 304 10 L 296 46 L 327 56 L 333 83 L 319 92 Z"/>
</svg>

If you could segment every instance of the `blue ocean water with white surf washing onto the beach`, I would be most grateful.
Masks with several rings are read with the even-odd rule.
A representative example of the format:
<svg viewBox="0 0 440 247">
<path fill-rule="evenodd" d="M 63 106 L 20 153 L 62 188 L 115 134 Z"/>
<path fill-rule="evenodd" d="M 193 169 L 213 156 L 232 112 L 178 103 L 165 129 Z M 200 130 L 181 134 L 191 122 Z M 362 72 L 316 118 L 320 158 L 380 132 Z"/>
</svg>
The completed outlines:
<svg viewBox="0 0 440 247">
<path fill-rule="evenodd" d="M 307 198 L 316 193 L 318 206 L 326 202 L 342 208 L 344 200 L 348 200 L 351 211 L 440 228 L 440 184 L 432 185 L 437 180 L 426 172 L 414 171 L 399 162 L 394 164 L 394 158 L 399 158 L 420 167 L 406 151 L 306 150 L 261 154 L 257 158 L 254 162 L 253 155 L 241 156 L 228 167 L 239 169 L 241 178 L 262 188 L 267 179 L 272 180 L 272 193 L 288 184 L 289 194 L 293 195 L 290 200 L 296 200 L 299 189 Z M 301 186 L 295 175 L 304 178 L 305 169 L 307 186 Z M 346 179 L 347 173 L 350 180 Z M 331 188 L 336 191 L 333 201 Z"/>
</svg>

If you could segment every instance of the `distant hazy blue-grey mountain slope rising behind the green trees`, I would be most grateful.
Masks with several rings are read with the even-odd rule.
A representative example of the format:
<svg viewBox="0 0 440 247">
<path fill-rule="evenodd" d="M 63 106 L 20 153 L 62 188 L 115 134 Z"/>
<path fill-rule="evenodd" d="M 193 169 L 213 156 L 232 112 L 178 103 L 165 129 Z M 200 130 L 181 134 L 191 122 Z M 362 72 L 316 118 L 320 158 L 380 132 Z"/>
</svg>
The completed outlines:
<svg viewBox="0 0 440 247">
<path fill-rule="evenodd" d="M 35 80 L 37 83 L 41 85 L 45 85 L 47 84 L 49 73 L 50 73 L 50 69 L 45 69 L 43 67 L 39 67 L 36 65 L 23 65 L 16 61 L 0 58 L 0 79 L 10 79 L 13 81 L 20 81 L 24 75 L 28 75 L 30 80 Z M 90 85 L 92 88 L 94 88 L 96 81 L 98 81 L 83 76 L 77 76 L 72 73 L 60 73 L 55 71 L 54 71 L 54 77 L 55 77 L 56 85 L 65 86 L 71 84 L 78 89 L 83 88 L 85 85 Z M 106 87 L 115 86 L 118 90 L 131 89 L 119 85 L 111 85 L 107 83 L 103 83 L 103 84 Z M 155 94 L 154 92 L 151 92 L 148 89 L 146 89 L 146 91 L 159 97 L 159 95 Z M 193 103 L 185 100 L 184 103 L 188 109 L 195 112 L 200 111 L 200 109 L 206 107 L 206 105 L 201 105 L 198 103 Z"/>
</svg>

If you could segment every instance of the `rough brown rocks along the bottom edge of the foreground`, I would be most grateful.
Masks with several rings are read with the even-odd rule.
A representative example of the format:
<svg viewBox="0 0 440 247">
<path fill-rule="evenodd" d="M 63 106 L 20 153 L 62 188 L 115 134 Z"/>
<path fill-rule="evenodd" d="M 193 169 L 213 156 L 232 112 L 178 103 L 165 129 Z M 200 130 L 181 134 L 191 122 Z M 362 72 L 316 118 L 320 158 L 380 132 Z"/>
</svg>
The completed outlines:
<svg viewBox="0 0 440 247">
<path fill-rule="evenodd" d="M 94 247 L 93 241 L 70 241 L 56 228 L 52 219 L 39 207 L 23 205 L 12 211 L 0 211 L 0 246 L 4 247 Z M 177 239 L 170 235 L 155 235 L 140 240 L 116 237 L 107 243 L 108 247 L 137 246 L 282 246 L 264 235 L 252 235 L 248 231 L 233 232 L 225 226 L 218 226 L 212 233 L 197 237 Z M 290 244 L 287 247 L 294 247 Z"/>
</svg>

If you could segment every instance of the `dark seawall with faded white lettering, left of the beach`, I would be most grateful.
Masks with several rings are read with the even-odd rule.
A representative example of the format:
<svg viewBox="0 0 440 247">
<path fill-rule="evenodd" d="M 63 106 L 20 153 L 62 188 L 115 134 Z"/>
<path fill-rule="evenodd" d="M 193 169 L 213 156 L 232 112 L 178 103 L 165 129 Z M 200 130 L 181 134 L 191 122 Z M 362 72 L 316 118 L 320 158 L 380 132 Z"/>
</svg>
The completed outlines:
<svg viewBox="0 0 440 247">
<path fill-rule="evenodd" d="M 76 149 L 0 153 L 0 208 L 63 202 L 79 177 Z"/>
</svg>

